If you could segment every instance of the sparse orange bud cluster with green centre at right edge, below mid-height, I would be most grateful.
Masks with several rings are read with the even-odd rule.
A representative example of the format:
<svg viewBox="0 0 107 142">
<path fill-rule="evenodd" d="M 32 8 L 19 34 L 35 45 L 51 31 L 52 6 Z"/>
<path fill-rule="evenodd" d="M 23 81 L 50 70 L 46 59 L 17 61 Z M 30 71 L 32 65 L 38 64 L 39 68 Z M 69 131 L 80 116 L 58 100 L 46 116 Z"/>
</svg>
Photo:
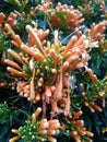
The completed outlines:
<svg viewBox="0 0 107 142">
<path fill-rule="evenodd" d="M 87 69 L 87 74 L 92 80 L 91 87 L 85 91 L 84 85 L 80 84 L 80 87 L 82 90 L 83 104 L 90 109 L 91 113 L 94 113 L 95 110 L 102 111 L 105 107 L 105 97 L 107 94 L 107 79 L 105 78 L 104 80 L 99 81 L 96 74 L 94 74 L 91 69 Z M 98 98 L 103 100 L 103 108 L 95 104 Z"/>
</svg>

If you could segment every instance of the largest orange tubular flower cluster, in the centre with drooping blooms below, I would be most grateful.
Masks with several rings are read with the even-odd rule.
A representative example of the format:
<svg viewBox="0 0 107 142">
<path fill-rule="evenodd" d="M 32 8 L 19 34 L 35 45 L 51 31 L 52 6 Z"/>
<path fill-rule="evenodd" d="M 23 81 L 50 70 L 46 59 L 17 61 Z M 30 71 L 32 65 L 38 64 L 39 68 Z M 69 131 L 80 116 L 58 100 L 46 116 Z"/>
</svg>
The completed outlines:
<svg viewBox="0 0 107 142">
<path fill-rule="evenodd" d="M 48 29 L 44 32 L 27 25 L 28 43 L 25 45 L 8 23 L 4 29 L 11 33 L 12 44 L 21 50 L 17 55 L 12 49 L 8 49 L 20 64 L 10 59 L 4 60 L 10 66 L 8 71 L 13 76 L 23 79 L 23 81 L 17 80 L 20 95 L 34 103 L 41 98 L 43 102 L 51 104 L 52 111 L 58 114 L 63 111 L 60 105 L 62 102 L 66 107 L 64 114 L 68 115 L 70 82 L 72 82 L 68 73 L 87 66 L 88 55 L 84 47 L 86 36 L 72 36 L 67 46 L 62 46 L 58 40 L 58 31 L 55 31 L 55 39 L 51 44 L 44 39 L 49 34 Z"/>
</svg>

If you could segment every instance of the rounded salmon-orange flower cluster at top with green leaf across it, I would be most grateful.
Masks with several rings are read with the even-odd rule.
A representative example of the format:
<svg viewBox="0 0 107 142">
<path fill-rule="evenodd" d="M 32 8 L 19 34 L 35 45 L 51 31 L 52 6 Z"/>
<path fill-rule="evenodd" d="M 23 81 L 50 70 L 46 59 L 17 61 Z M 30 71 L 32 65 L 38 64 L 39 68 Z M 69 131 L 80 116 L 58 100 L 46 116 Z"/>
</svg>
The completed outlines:
<svg viewBox="0 0 107 142">
<path fill-rule="evenodd" d="M 67 4 L 61 4 L 60 2 L 55 9 L 50 5 L 51 2 L 43 2 L 38 7 L 38 10 L 44 11 L 46 14 L 49 13 L 49 21 L 55 27 L 72 31 L 84 21 L 82 13 L 72 5 L 69 8 Z"/>
</svg>

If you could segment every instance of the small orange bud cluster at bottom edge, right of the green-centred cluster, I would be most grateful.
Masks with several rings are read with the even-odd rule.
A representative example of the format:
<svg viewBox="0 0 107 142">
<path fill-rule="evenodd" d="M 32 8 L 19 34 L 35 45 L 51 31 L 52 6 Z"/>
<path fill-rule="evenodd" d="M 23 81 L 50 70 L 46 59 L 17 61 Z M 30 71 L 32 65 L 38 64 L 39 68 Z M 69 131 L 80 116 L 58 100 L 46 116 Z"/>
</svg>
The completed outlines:
<svg viewBox="0 0 107 142">
<path fill-rule="evenodd" d="M 72 118 L 64 118 L 62 122 L 62 130 L 69 133 L 75 142 L 87 141 L 91 142 L 91 139 L 94 134 L 86 130 L 84 127 L 84 120 L 80 119 L 82 110 L 73 111 Z"/>
</svg>

